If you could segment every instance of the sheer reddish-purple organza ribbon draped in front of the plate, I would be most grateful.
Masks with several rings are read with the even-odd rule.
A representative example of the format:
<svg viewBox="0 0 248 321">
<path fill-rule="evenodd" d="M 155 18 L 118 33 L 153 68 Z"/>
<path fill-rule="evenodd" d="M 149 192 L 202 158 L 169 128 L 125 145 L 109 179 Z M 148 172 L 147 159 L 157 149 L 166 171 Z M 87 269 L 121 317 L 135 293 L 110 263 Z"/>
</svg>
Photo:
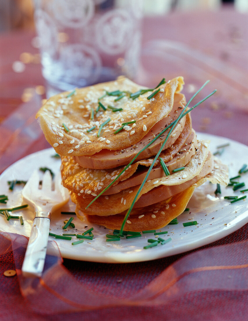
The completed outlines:
<svg viewBox="0 0 248 321">
<path fill-rule="evenodd" d="M 54 241 L 48 242 L 42 277 L 23 278 L 21 265 L 27 243 L 28 239 L 22 235 L 0 233 L 0 255 L 13 251 L 21 294 L 28 300 L 29 307 L 39 314 L 156 307 L 158 310 L 167 308 L 176 313 L 178 319 L 188 319 L 192 313 L 197 316 L 199 311 L 202 316 L 204 309 L 209 319 L 212 319 L 211 315 L 216 317 L 215 320 L 229 320 L 232 316 L 236 319 L 239 315 L 238 320 L 243 320 L 247 311 L 247 240 L 184 256 L 140 291 L 133 292 L 130 288 L 130 291 L 121 293 L 116 291 L 113 296 L 105 295 L 102 289 L 93 291 L 87 282 L 78 282 L 63 266 Z M 199 310 L 192 311 L 196 302 Z"/>
</svg>

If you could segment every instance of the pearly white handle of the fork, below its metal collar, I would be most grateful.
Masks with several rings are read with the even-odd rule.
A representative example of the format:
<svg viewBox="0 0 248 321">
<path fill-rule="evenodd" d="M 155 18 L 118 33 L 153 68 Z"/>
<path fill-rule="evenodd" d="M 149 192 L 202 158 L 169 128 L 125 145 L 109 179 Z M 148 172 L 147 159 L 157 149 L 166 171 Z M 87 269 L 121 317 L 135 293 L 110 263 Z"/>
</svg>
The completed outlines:
<svg viewBox="0 0 248 321">
<path fill-rule="evenodd" d="M 25 277 L 39 277 L 42 274 L 46 257 L 50 218 L 50 212 L 35 212 L 28 247 L 21 269 Z"/>
</svg>

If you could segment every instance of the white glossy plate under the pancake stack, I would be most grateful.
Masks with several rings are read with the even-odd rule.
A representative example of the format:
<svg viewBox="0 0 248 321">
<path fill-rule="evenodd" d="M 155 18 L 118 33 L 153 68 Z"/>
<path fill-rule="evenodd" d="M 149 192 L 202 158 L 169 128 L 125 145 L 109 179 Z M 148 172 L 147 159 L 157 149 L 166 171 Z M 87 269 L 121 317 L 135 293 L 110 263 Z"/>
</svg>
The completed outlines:
<svg viewBox="0 0 248 321">
<path fill-rule="evenodd" d="M 238 170 L 248 160 L 248 147 L 223 137 L 217 137 L 209 134 L 197 135 L 200 139 L 210 139 L 210 148 L 212 152 L 216 151 L 216 147 L 230 143 L 220 156 L 221 160 L 228 164 L 230 177 L 237 175 Z M 9 201 L 6 205 L 0 204 L 0 207 L 14 207 L 22 203 L 21 187 L 16 186 L 14 191 L 8 190 L 7 181 L 18 179 L 27 180 L 34 169 L 39 167 L 48 167 L 57 172 L 60 167 L 60 159 L 52 158 L 54 155 L 52 148 L 46 149 L 34 154 L 28 155 L 17 161 L 6 169 L 0 176 L 0 194 L 6 194 Z M 42 173 L 41 173 L 42 175 Z M 248 173 L 242 175 L 240 182 L 245 182 L 248 187 Z M 56 239 L 60 248 L 61 255 L 65 258 L 103 262 L 103 263 L 127 263 L 148 261 L 178 253 L 209 244 L 213 241 L 223 238 L 228 234 L 241 228 L 248 222 L 248 201 L 241 200 L 237 203 L 230 204 L 229 200 L 225 200 L 224 196 L 244 195 L 239 190 L 233 192 L 231 187 L 221 187 L 221 195 L 216 197 L 214 191 L 216 185 L 206 182 L 198 187 L 191 200 L 188 203 L 190 212 L 184 212 L 178 217 L 179 224 L 168 225 L 158 231 L 167 231 L 167 234 L 160 235 L 163 239 L 171 238 L 172 240 L 164 245 L 158 245 L 149 249 L 143 249 L 148 244 L 147 239 L 153 238 L 153 234 L 143 234 L 140 238 L 125 239 L 121 241 L 106 242 L 105 235 L 109 232 L 103 226 L 88 224 L 81 222 L 75 216 L 73 223 L 76 226 L 76 233 L 82 233 L 90 227 L 93 227 L 93 240 L 84 240 L 84 243 L 73 246 L 72 241 Z M 75 205 L 69 202 L 61 210 L 74 211 Z M 18 233 L 25 236 L 30 235 L 31 225 L 33 221 L 32 209 L 24 209 L 12 212 L 13 215 L 22 215 L 24 225 L 19 220 L 6 221 L 5 217 L 0 215 L 0 230 L 4 232 Z M 62 226 L 63 221 L 68 219 L 70 215 L 63 215 L 59 212 L 52 214 L 51 232 L 55 234 L 64 233 Z M 197 221 L 198 225 L 183 227 L 183 222 Z M 70 228 L 67 233 L 75 233 Z M 54 238 L 49 237 L 50 240 Z M 73 240 L 78 240 L 73 237 Z"/>
</svg>

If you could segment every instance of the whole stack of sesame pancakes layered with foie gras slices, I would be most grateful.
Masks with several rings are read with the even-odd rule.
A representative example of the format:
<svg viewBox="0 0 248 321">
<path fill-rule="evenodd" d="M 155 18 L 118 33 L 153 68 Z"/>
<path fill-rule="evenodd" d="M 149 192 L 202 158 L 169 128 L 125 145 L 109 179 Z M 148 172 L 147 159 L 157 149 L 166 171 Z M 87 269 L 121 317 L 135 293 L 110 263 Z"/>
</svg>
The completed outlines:
<svg viewBox="0 0 248 321">
<path fill-rule="evenodd" d="M 145 92 L 144 87 L 120 77 L 58 94 L 39 110 L 40 126 L 61 155 L 62 183 L 71 191 L 81 220 L 86 217 L 89 222 L 120 229 L 169 130 L 158 134 L 185 107 L 180 93 L 183 84 L 182 77 L 174 78 L 149 98 L 152 89 Z M 135 92 L 138 94 L 132 95 Z M 212 155 L 208 144 L 197 141 L 190 113 L 178 121 L 159 155 L 170 175 L 156 160 L 124 230 L 162 228 L 185 210 L 197 186 L 206 180 L 228 184 L 227 166 Z M 185 168 L 173 172 L 181 167 Z M 112 186 L 87 207 L 110 183 Z"/>
</svg>

